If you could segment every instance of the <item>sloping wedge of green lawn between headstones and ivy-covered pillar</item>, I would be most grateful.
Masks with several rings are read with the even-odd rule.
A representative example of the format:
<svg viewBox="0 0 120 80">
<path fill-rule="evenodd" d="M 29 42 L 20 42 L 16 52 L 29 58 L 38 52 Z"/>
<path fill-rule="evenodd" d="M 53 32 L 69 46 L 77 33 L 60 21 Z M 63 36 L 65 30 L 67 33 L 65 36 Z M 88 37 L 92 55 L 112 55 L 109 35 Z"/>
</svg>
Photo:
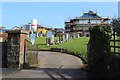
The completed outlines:
<svg viewBox="0 0 120 80">
<path fill-rule="evenodd" d="M 87 58 L 87 43 L 89 41 L 89 37 L 80 37 L 73 40 L 69 40 L 68 42 L 64 42 L 59 45 L 52 45 L 51 48 L 63 48 L 68 52 L 74 52 L 77 55 L 82 56 L 83 58 Z"/>
</svg>

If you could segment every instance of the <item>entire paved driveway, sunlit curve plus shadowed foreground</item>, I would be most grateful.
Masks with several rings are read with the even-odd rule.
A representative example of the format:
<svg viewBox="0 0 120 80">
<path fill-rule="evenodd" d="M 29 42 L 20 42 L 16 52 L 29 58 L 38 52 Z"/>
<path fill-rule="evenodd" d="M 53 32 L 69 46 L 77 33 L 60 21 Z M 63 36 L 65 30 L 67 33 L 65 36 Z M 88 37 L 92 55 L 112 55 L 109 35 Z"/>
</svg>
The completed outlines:
<svg viewBox="0 0 120 80">
<path fill-rule="evenodd" d="M 80 69 L 83 66 L 78 57 L 39 51 L 40 67 L 28 70 L 3 69 L 3 78 L 92 78 L 93 75 Z"/>
</svg>

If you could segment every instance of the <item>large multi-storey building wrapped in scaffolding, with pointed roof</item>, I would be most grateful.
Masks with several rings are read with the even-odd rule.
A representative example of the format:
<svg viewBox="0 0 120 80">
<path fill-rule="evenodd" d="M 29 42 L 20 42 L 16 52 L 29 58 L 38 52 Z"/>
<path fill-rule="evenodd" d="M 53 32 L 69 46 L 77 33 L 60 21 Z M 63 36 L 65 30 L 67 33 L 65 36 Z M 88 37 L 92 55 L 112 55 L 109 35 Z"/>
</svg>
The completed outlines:
<svg viewBox="0 0 120 80">
<path fill-rule="evenodd" d="M 89 36 L 90 26 L 96 26 L 99 24 L 108 25 L 109 20 L 108 17 L 102 18 L 98 16 L 97 13 L 90 10 L 87 13 L 83 13 L 80 17 L 65 21 L 65 33 L 70 34 L 73 38 L 77 38 L 78 36 Z"/>
</svg>

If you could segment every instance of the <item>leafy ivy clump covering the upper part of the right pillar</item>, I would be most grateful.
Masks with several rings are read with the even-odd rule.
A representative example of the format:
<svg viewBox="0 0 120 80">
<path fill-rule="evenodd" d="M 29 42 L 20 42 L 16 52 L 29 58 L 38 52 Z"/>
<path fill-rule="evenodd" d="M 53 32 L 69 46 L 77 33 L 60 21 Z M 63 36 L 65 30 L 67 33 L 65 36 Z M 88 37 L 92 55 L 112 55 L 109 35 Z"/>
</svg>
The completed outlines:
<svg viewBox="0 0 120 80">
<path fill-rule="evenodd" d="M 95 48 L 97 52 L 108 51 L 109 42 L 112 36 L 112 26 L 94 26 L 90 27 L 89 31 L 92 47 Z"/>
</svg>

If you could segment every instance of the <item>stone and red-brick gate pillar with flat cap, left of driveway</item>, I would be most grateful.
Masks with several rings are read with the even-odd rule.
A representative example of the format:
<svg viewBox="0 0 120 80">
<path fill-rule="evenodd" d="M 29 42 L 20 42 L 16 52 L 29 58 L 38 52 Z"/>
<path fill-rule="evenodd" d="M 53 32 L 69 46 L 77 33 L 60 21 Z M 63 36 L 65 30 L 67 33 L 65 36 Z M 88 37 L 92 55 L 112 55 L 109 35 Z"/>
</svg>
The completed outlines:
<svg viewBox="0 0 120 80">
<path fill-rule="evenodd" d="M 28 38 L 27 33 L 22 30 L 10 30 L 8 33 L 7 48 L 7 67 L 23 68 L 25 56 L 25 39 Z M 26 45 L 27 46 L 27 45 Z"/>
</svg>

